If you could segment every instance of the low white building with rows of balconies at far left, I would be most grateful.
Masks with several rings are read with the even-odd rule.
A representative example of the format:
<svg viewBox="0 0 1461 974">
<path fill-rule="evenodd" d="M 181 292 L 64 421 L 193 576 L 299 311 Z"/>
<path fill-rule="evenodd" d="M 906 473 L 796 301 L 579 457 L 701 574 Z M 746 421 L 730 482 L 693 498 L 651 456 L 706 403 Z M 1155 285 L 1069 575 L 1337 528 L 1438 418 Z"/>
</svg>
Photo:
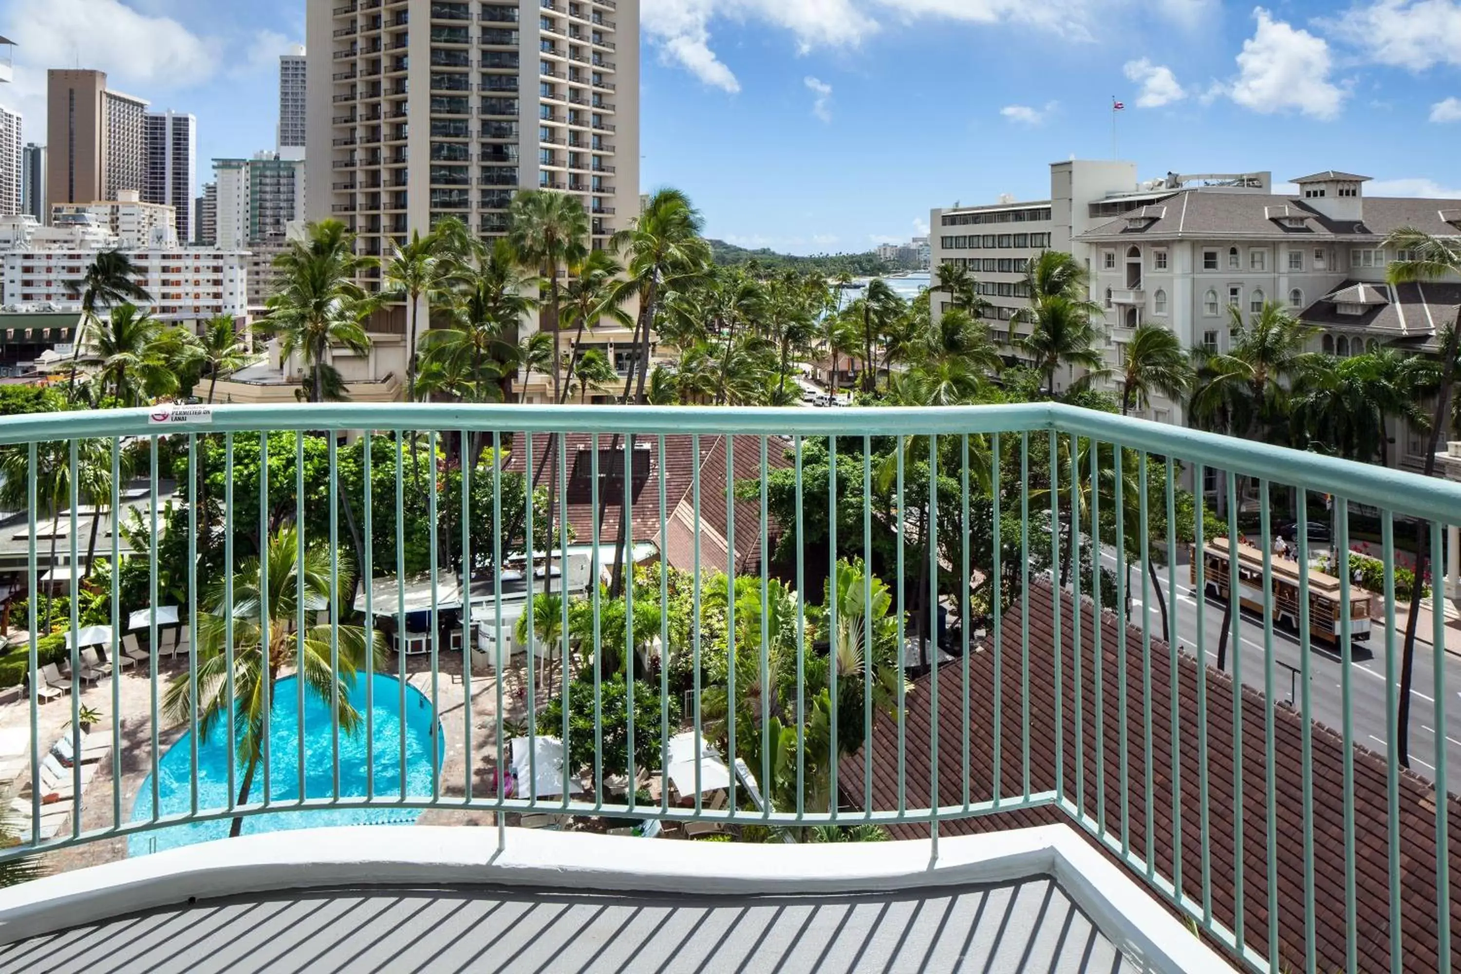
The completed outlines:
<svg viewBox="0 0 1461 974">
<path fill-rule="evenodd" d="M 159 318 L 191 323 L 219 314 L 243 318 L 247 312 L 244 251 L 175 245 L 123 250 L 137 266 L 137 283 L 152 295 L 152 302 L 139 302 L 140 307 Z M 67 282 L 85 277 L 98 253 L 96 248 L 50 245 L 39 235 L 0 253 L 0 304 L 79 308 L 79 298 Z"/>
</svg>

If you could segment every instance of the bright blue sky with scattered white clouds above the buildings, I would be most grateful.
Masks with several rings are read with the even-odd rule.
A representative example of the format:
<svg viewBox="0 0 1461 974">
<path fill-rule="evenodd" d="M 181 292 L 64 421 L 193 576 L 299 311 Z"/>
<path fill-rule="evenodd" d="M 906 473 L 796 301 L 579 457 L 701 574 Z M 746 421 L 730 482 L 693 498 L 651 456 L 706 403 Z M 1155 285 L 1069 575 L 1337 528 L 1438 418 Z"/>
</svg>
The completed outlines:
<svg viewBox="0 0 1461 974">
<path fill-rule="evenodd" d="M 329 3 L 330 0 L 308 0 Z M 1046 164 L 1315 169 L 1461 196 L 1461 0 L 641 0 L 643 187 L 707 232 L 795 253 L 922 232 L 931 206 L 1042 197 Z M 304 0 L 0 0 L 44 129 L 44 69 L 200 118 L 206 161 L 273 145 Z"/>
</svg>

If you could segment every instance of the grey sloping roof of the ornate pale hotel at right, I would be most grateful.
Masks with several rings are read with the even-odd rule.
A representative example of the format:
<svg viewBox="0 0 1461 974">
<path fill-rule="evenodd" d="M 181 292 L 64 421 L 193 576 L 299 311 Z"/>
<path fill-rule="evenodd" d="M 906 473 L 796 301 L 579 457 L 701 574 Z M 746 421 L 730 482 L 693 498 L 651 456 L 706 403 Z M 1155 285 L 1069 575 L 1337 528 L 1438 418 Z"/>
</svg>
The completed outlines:
<svg viewBox="0 0 1461 974">
<path fill-rule="evenodd" d="M 1115 216 L 1086 231 L 1078 239 L 1311 238 L 1362 244 L 1382 239 L 1403 226 L 1433 235 L 1457 232 L 1443 216 L 1443 212 L 1454 213 L 1455 200 L 1378 196 L 1365 199 L 1363 206 L 1362 221 L 1332 221 L 1313 209 L 1308 200 L 1293 196 L 1188 190 L 1167 200 L 1166 215 L 1159 221 L 1132 226 L 1125 216 Z M 1287 226 L 1273 219 L 1278 207 L 1284 207 L 1286 216 L 1308 219 L 1303 226 Z"/>
</svg>

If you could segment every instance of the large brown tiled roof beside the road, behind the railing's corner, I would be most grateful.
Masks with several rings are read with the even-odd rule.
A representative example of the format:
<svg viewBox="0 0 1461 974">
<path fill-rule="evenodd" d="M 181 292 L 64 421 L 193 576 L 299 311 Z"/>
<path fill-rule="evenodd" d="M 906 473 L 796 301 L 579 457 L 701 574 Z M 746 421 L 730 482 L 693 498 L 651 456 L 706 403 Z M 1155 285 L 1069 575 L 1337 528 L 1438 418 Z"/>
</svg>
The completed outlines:
<svg viewBox="0 0 1461 974">
<path fill-rule="evenodd" d="M 1075 650 L 1071 634 L 1074 605 L 1062 594 L 1062 705 L 1064 705 L 1064 768 L 1067 797 L 1075 799 L 1077 736 L 1075 736 Z M 1055 640 L 1052 637 L 1053 609 L 1048 587 L 1034 587 L 1030 605 L 1030 790 L 1043 791 L 1055 787 Z M 1154 613 L 1153 613 L 1154 615 Z M 1004 616 L 1002 660 L 1002 714 L 999 721 L 1002 736 L 1001 775 L 1005 797 L 1021 793 L 1021 640 L 1020 606 Z M 1116 618 L 1106 613 L 1102 621 L 1103 659 L 1102 675 L 1105 688 L 1105 713 L 1096 720 L 1094 673 L 1094 610 L 1087 603 L 1081 610 L 1081 657 L 1083 657 L 1083 720 L 1084 745 L 1080 751 L 1084 771 L 1084 800 L 1087 813 L 1097 813 L 1097 762 L 1094 742 L 1097 732 L 1105 733 L 1105 815 L 1107 832 L 1121 835 L 1121 748 L 1122 727 L 1119 679 L 1121 645 Z M 1153 832 L 1157 873 L 1170 878 L 1173 873 L 1173 775 L 1172 775 L 1172 718 L 1176 710 L 1180 726 L 1180 848 L 1182 888 L 1188 897 L 1201 902 L 1202 897 L 1202 847 L 1199 805 L 1199 751 L 1198 751 L 1198 707 L 1195 660 L 1186 653 L 1178 654 L 1178 694 L 1172 695 L 1172 657 L 1166 644 L 1151 638 L 1151 770 L 1153 770 Z M 1128 735 L 1128 781 L 1131 850 L 1145 854 L 1147 806 L 1145 774 L 1147 748 L 1144 740 L 1143 711 L 1148 701 L 1143 686 L 1143 637 L 1135 628 L 1126 631 L 1126 735 Z M 992 739 L 993 739 L 993 648 L 970 656 L 969 740 L 970 758 L 967 781 L 970 800 L 992 797 Z M 938 802 L 957 805 L 963 802 L 966 781 L 963 764 L 963 664 L 950 663 L 938 673 Z M 1208 810 L 1211 854 L 1213 911 L 1216 919 L 1229 929 L 1235 917 L 1235 828 L 1233 815 L 1233 683 L 1226 673 L 1207 670 L 1207 724 L 1208 724 Z M 929 730 L 932 680 L 919 679 L 907 695 L 907 721 L 904 735 L 906 808 L 929 805 Z M 1265 755 L 1264 755 L 1265 701 L 1258 692 L 1242 691 L 1242 787 L 1243 787 L 1243 923 L 1245 939 L 1259 954 L 1267 954 L 1268 937 L 1268 894 L 1267 894 L 1267 812 Z M 1303 908 L 1303 805 L 1302 805 L 1302 730 L 1303 717 L 1286 705 L 1274 711 L 1274 753 L 1277 761 L 1277 789 L 1273 810 L 1277 815 L 1278 844 L 1278 926 L 1281 954 L 1294 970 L 1302 968 L 1305 945 Z M 1318 968 L 1321 971 L 1341 970 L 1346 949 L 1344 920 L 1344 800 L 1343 800 L 1343 739 L 1322 724 L 1312 724 L 1313 761 L 1313 835 L 1315 835 L 1315 942 Z M 899 803 L 899 727 L 897 721 L 880 716 L 875 721 L 869 748 L 872 752 L 872 806 L 896 809 Z M 862 808 L 865 802 L 863 753 L 844 758 L 839 765 L 843 800 Z M 1357 937 L 1360 970 L 1388 970 L 1388 815 L 1386 815 L 1386 764 L 1382 755 L 1365 748 L 1354 748 L 1354 809 L 1356 809 L 1356 886 L 1359 897 Z M 1400 818 L 1394 827 L 1401 843 L 1401 924 L 1404 970 L 1438 970 L 1436 964 L 1436 872 L 1435 872 L 1435 790 L 1426 781 L 1410 772 L 1401 772 L 1398 781 Z M 1455 797 L 1449 803 L 1451 859 L 1461 863 L 1461 803 Z M 991 832 L 1023 825 L 1071 822 L 1064 812 L 1046 806 L 1039 809 L 1002 812 L 980 818 L 966 818 L 944 822 L 944 834 Z M 1074 825 L 1074 824 L 1072 824 Z M 1100 843 L 1084 829 L 1088 841 L 1100 848 Z M 915 838 L 928 834 L 926 825 L 899 825 L 893 832 L 900 838 Z M 1105 850 L 1103 850 L 1105 851 Z M 1461 930 L 1461 870 L 1451 870 L 1451 917 L 1454 929 Z M 1461 949 L 1461 943 L 1455 949 Z M 1461 961 L 1457 954 L 1446 967 Z"/>
</svg>

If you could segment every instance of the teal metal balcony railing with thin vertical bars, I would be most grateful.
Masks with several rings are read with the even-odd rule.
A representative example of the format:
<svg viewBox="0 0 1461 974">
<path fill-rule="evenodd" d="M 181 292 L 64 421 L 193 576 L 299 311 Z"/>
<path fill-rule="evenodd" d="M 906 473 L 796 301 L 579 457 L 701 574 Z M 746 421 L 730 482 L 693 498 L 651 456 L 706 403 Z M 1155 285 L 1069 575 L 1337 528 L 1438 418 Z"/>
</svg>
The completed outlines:
<svg viewBox="0 0 1461 974">
<path fill-rule="evenodd" d="M 1461 485 L 1059 404 L 12 416 L 0 475 L 0 857 L 1064 821 L 1254 970 L 1455 964 Z"/>
</svg>

